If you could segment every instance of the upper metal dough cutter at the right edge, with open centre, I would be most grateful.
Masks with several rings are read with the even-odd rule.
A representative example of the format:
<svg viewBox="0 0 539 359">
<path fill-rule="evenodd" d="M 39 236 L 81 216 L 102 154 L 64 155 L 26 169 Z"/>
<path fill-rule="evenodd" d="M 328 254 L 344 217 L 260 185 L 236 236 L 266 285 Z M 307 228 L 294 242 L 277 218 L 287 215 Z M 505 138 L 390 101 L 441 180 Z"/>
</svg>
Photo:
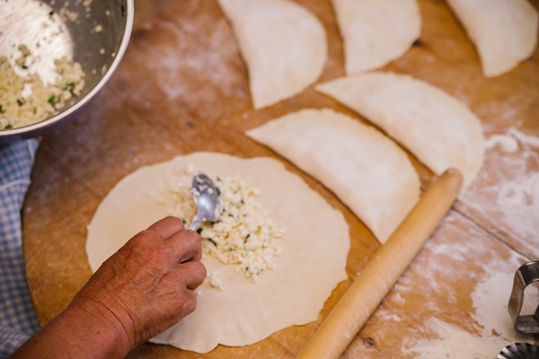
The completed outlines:
<svg viewBox="0 0 539 359">
<path fill-rule="evenodd" d="M 539 282 L 539 260 L 528 262 L 518 268 L 509 298 L 508 311 L 515 330 L 522 334 L 539 333 L 539 306 L 533 315 L 521 315 L 526 286 Z"/>
</svg>

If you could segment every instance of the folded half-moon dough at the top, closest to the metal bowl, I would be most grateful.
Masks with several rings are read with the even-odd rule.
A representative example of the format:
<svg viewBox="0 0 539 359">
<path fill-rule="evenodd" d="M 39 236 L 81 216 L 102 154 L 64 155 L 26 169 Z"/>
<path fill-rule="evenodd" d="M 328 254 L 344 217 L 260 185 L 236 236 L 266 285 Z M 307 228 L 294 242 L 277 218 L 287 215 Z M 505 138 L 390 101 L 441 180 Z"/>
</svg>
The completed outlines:
<svg viewBox="0 0 539 359">
<path fill-rule="evenodd" d="M 288 0 L 218 0 L 232 22 L 255 109 L 305 90 L 322 74 L 327 41 L 322 23 Z"/>
</svg>

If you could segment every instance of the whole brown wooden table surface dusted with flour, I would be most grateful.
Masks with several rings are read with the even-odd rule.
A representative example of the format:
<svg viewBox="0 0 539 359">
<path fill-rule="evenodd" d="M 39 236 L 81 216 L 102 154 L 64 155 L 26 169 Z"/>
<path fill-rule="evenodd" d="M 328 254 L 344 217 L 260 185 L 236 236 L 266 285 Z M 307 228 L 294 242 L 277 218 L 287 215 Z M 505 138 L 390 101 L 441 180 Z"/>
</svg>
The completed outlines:
<svg viewBox="0 0 539 359">
<path fill-rule="evenodd" d="M 296 2 L 316 14 L 327 31 L 329 60 L 318 82 L 343 75 L 342 42 L 330 0 Z M 511 127 L 539 136 L 539 50 L 508 74 L 484 78 L 473 44 L 445 2 L 419 3 L 420 40 L 383 70 L 411 74 L 454 95 L 481 119 L 487 138 L 507 134 Z M 539 1 L 532 4 L 539 8 Z M 137 0 L 136 5 L 135 30 L 117 72 L 80 118 L 43 138 L 36 156 L 22 231 L 40 322 L 62 311 L 91 276 L 86 226 L 102 198 L 128 173 L 195 151 L 270 156 L 345 215 L 351 237 L 349 280 L 332 293 L 318 320 L 252 346 L 218 346 L 198 355 L 145 344 L 129 357 L 294 357 L 380 245 L 329 190 L 243 131 L 304 108 L 328 107 L 365 118 L 313 86 L 253 110 L 246 67 L 215 0 Z M 411 160 L 427 188 L 432 172 Z M 472 188 L 342 357 L 492 358 L 509 343 L 539 339 L 517 337 L 507 312 L 517 267 L 539 258 L 538 172 L 539 148 L 488 149 Z M 538 293 L 528 295 L 532 306 L 539 302 Z"/>
</svg>

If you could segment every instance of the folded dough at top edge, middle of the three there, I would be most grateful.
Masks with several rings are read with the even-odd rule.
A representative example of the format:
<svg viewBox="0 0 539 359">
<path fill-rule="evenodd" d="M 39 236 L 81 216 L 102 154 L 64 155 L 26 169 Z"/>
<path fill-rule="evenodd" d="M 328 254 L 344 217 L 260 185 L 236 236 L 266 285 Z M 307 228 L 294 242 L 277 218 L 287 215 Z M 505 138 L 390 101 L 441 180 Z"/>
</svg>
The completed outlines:
<svg viewBox="0 0 539 359">
<path fill-rule="evenodd" d="M 347 74 L 384 66 L 420 37 L 416 0 L 331 0 L 344 39 Z"/>
</svg>

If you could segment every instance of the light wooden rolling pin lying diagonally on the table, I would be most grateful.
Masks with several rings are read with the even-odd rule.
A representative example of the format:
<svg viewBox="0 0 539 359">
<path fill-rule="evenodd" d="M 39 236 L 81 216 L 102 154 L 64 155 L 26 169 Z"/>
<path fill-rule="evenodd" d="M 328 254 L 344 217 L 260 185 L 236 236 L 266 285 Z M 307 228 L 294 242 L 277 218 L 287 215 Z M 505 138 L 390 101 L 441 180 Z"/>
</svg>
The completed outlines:
<svg viewBox="0 0 539 359">
<path fill-rule="evenodd" d="M 376 251 L 296 359 L 337 359 L 418 254 L 457 197 L 463 176 L 447 170 Z"/>
</svg>

